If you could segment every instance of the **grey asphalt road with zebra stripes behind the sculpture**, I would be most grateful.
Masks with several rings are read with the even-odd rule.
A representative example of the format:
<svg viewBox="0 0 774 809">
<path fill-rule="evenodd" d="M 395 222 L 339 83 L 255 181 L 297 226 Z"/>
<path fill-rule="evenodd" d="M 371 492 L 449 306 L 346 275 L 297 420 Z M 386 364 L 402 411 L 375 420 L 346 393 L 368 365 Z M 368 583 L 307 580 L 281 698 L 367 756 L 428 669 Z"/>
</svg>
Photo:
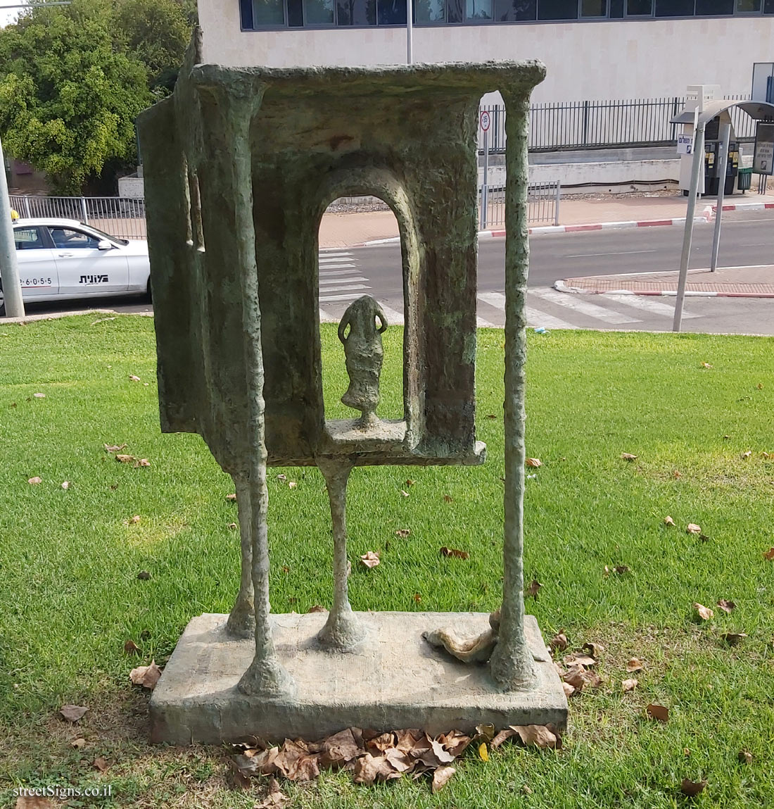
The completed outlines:
<svg viewBox="0 0 774 809">
<path fill-rule="evenodd" d="M 721 265 L 774 264 L 772 222 L 772 211 L 726 213 Z M 670 330 L 674 299 L 565 294 L 551 286 L 558 278 L 573 275 L 677 269 L 682 239 L 680 227 L 533 236 L 527 294 L 529 324 L 545 328 Z M 712 227 L 697 225 L 692 267 L 708 265 L 711 244 Z M 478 294 L 481 326 L 502 326 L 505 322 L 504 262 L 505 239 L 482 239 Z M 323 251 L 319 283 L 323 320 L 339 320 L 353 299 L 367 293 L 383 304 L 388 320 L 402 322 L 403 282 L 397 244 Z M 150 311 L 149 303 L 132 299 L 104 299 L 93 305 L 119 311 Z M 38 304 L 34 311 L 72 307 L 72 303 L 57 303 L 44 309 Z M 683 330 L 774 334 L 774 300 L 691 297 L 686 302 Z"/>
</svg>

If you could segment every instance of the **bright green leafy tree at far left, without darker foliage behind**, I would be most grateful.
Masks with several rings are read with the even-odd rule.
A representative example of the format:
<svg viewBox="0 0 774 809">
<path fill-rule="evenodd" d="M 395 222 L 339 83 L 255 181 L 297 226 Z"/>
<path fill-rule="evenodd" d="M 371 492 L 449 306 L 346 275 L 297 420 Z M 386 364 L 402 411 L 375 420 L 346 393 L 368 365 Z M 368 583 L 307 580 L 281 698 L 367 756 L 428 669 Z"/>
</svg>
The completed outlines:
<svg viewBox="0 0 774 809">
<path fill-rule="evenodd" d="M 108 160 L 135 154 L 152 101 L 140 61 L 114 48 L 103 0 L 36 8 L 0 32 L 0 130 L 9 152 L 78 193 Z"/>
</svg>

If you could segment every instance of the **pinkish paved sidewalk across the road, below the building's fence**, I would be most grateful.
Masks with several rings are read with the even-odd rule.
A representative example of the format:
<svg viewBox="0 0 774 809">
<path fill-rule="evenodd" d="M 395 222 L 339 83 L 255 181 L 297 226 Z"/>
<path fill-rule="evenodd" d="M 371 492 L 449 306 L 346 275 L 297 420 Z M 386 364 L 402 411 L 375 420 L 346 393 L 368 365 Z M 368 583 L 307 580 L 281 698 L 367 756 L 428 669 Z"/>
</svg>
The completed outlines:
<svg viewBox="0 0 774 809">
<path fill-rule="evenodd" d="M 704 222 L 714 218 L 713 197 L 697 201 L 696 219 Z M 747 192 L 725 197 L 723 210 L 760 210 L 774 208 L 774 196 Z M 685 222 L 687 198 L 675 192 L 667 196 L 596 197 L 594 199 L 563 199 L 560 202 L 560 225 L 543 226 L 535 222 L 530 232 L 605 230 L 619 227 L 655 227 L 682 225 Z M 502 236 L 505 231 L 483 231 L 481 235 Z M 320 248 L 361 246 L 383 239 L 398 238 L 398 223 L 389 210 L 353 214 L 324 214 L 319 226 Z"/>
</svg>

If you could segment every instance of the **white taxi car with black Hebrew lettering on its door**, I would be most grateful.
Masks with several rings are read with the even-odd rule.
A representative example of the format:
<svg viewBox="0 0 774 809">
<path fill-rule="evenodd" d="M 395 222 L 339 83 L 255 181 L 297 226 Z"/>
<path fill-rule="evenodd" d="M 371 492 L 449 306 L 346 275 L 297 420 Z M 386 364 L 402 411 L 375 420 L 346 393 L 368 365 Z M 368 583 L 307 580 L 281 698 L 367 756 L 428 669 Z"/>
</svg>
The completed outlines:
<svg viewBox="0 0 774 809">
<path fill-rule="evenodd" d="M 117 239 L 74 219 L 57 218 L 17 219 L 14 239 L 25 303 L 150 295 L 150 261 L 144 240 Z"/>
</svg>

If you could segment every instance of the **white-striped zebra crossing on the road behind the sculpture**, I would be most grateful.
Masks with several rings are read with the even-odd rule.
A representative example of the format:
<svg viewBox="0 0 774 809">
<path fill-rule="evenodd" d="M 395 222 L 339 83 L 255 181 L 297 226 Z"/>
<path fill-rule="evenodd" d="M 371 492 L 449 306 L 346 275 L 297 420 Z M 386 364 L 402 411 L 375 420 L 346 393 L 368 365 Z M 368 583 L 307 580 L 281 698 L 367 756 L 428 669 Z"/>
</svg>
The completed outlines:
<svg viewBox="0 0 774 809">
<path fill-rule="evenodd" d="M 363 294 L 374 294 L 374 279 L 358 268 L 349 250 L 327 250 L 319 254 L 319 320 L 336 323 L 346 307 Z M 374 298 L 379 299 L 379 294 Z M 403 325 L 403 301 L 379 300 L 391 325 Z M 476 322 L 480 328 L 505 325 L 505 294 L 480 292 Z M 548 287 L 527 290 L 527 325 L 532 328 L 641 328 L 669 329 L 675 315 L 674 299 L 653 299 L 641 295 L 569 294 Z M 683 319 L 700 317 L 691 311 Z"/>
</svg>

